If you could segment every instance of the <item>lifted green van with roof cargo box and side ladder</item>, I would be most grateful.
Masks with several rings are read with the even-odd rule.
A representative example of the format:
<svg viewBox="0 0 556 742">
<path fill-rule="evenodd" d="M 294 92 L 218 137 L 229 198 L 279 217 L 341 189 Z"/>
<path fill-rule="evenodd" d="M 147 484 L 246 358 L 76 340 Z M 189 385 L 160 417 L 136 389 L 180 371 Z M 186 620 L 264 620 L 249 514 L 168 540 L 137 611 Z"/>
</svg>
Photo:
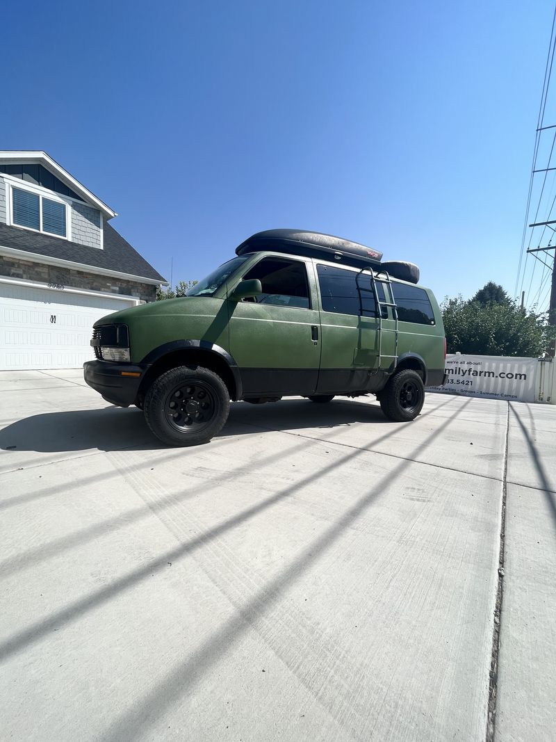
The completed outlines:
<svg viewBox="0 0 556 742">
<path fill-rule="evenodd" d="M 417 266 L 381 259 L 329 234 L 254 234 L 187 296 L 96 322 L 85 381 L 175 446 L 216 436 L 230 400 L 374 393 L 388 418 L 413 420 L 444 382 L 442 317 Z"/>
</svg>

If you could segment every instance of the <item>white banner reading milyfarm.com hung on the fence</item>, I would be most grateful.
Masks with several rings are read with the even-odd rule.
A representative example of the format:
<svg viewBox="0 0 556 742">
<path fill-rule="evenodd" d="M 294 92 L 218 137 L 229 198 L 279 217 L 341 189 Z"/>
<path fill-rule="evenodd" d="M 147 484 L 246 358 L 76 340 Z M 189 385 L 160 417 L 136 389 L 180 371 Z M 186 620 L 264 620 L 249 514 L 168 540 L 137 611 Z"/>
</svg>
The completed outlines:
<svg viewBox="0 0 556 742">
<path fill-rule="evenodd" d="M 520 402 L 535 401 L 537 358 L 446 355 L 446 384 L 429 391 Z"/>
</svg>

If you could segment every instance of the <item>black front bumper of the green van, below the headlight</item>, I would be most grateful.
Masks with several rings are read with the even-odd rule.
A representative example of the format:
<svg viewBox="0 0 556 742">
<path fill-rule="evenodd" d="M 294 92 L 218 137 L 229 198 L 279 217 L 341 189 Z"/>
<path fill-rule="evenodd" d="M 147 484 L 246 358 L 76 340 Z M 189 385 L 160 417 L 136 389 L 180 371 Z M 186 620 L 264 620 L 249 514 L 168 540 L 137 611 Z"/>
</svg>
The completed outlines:
<svg viewBox="0 0 556 742">
<path fill-rule="evenodd" d="M 87 361 L 83 364 L 83 376 L 87 384 L 101 394 L 107 402 L 116 404 L 118 407 L 129 407 L 130 404 L 135 403 L 148 367 L 148 364 Z"/>
</svg>

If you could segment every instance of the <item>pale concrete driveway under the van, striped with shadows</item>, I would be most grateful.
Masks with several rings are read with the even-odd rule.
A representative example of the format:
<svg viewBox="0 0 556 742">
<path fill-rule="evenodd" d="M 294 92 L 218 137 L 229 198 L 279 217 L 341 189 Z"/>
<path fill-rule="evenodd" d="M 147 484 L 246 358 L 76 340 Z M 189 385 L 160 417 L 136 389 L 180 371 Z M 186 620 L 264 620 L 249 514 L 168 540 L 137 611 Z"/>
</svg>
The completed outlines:
<svg viewBox="0 0 556 742">
<path fill-rule="evenodd" d="M 2 739 L 554 739 L 556 407 L 236 403 L 170 449 L 1 372 L 0 428 Z"/>
</svg>

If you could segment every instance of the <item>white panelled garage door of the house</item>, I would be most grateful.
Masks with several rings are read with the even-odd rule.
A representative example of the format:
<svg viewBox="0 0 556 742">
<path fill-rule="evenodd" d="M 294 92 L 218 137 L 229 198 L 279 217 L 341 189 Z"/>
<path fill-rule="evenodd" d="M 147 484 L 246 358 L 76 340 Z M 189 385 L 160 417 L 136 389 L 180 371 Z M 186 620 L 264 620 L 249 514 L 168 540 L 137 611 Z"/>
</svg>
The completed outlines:
<svg viewBox="0 0 556 742">
<path fill-rule="evenodd" d="M 136 300 L 0 281 L 0 370 L 79 368 L 93 323 Z"/>
</svg>

